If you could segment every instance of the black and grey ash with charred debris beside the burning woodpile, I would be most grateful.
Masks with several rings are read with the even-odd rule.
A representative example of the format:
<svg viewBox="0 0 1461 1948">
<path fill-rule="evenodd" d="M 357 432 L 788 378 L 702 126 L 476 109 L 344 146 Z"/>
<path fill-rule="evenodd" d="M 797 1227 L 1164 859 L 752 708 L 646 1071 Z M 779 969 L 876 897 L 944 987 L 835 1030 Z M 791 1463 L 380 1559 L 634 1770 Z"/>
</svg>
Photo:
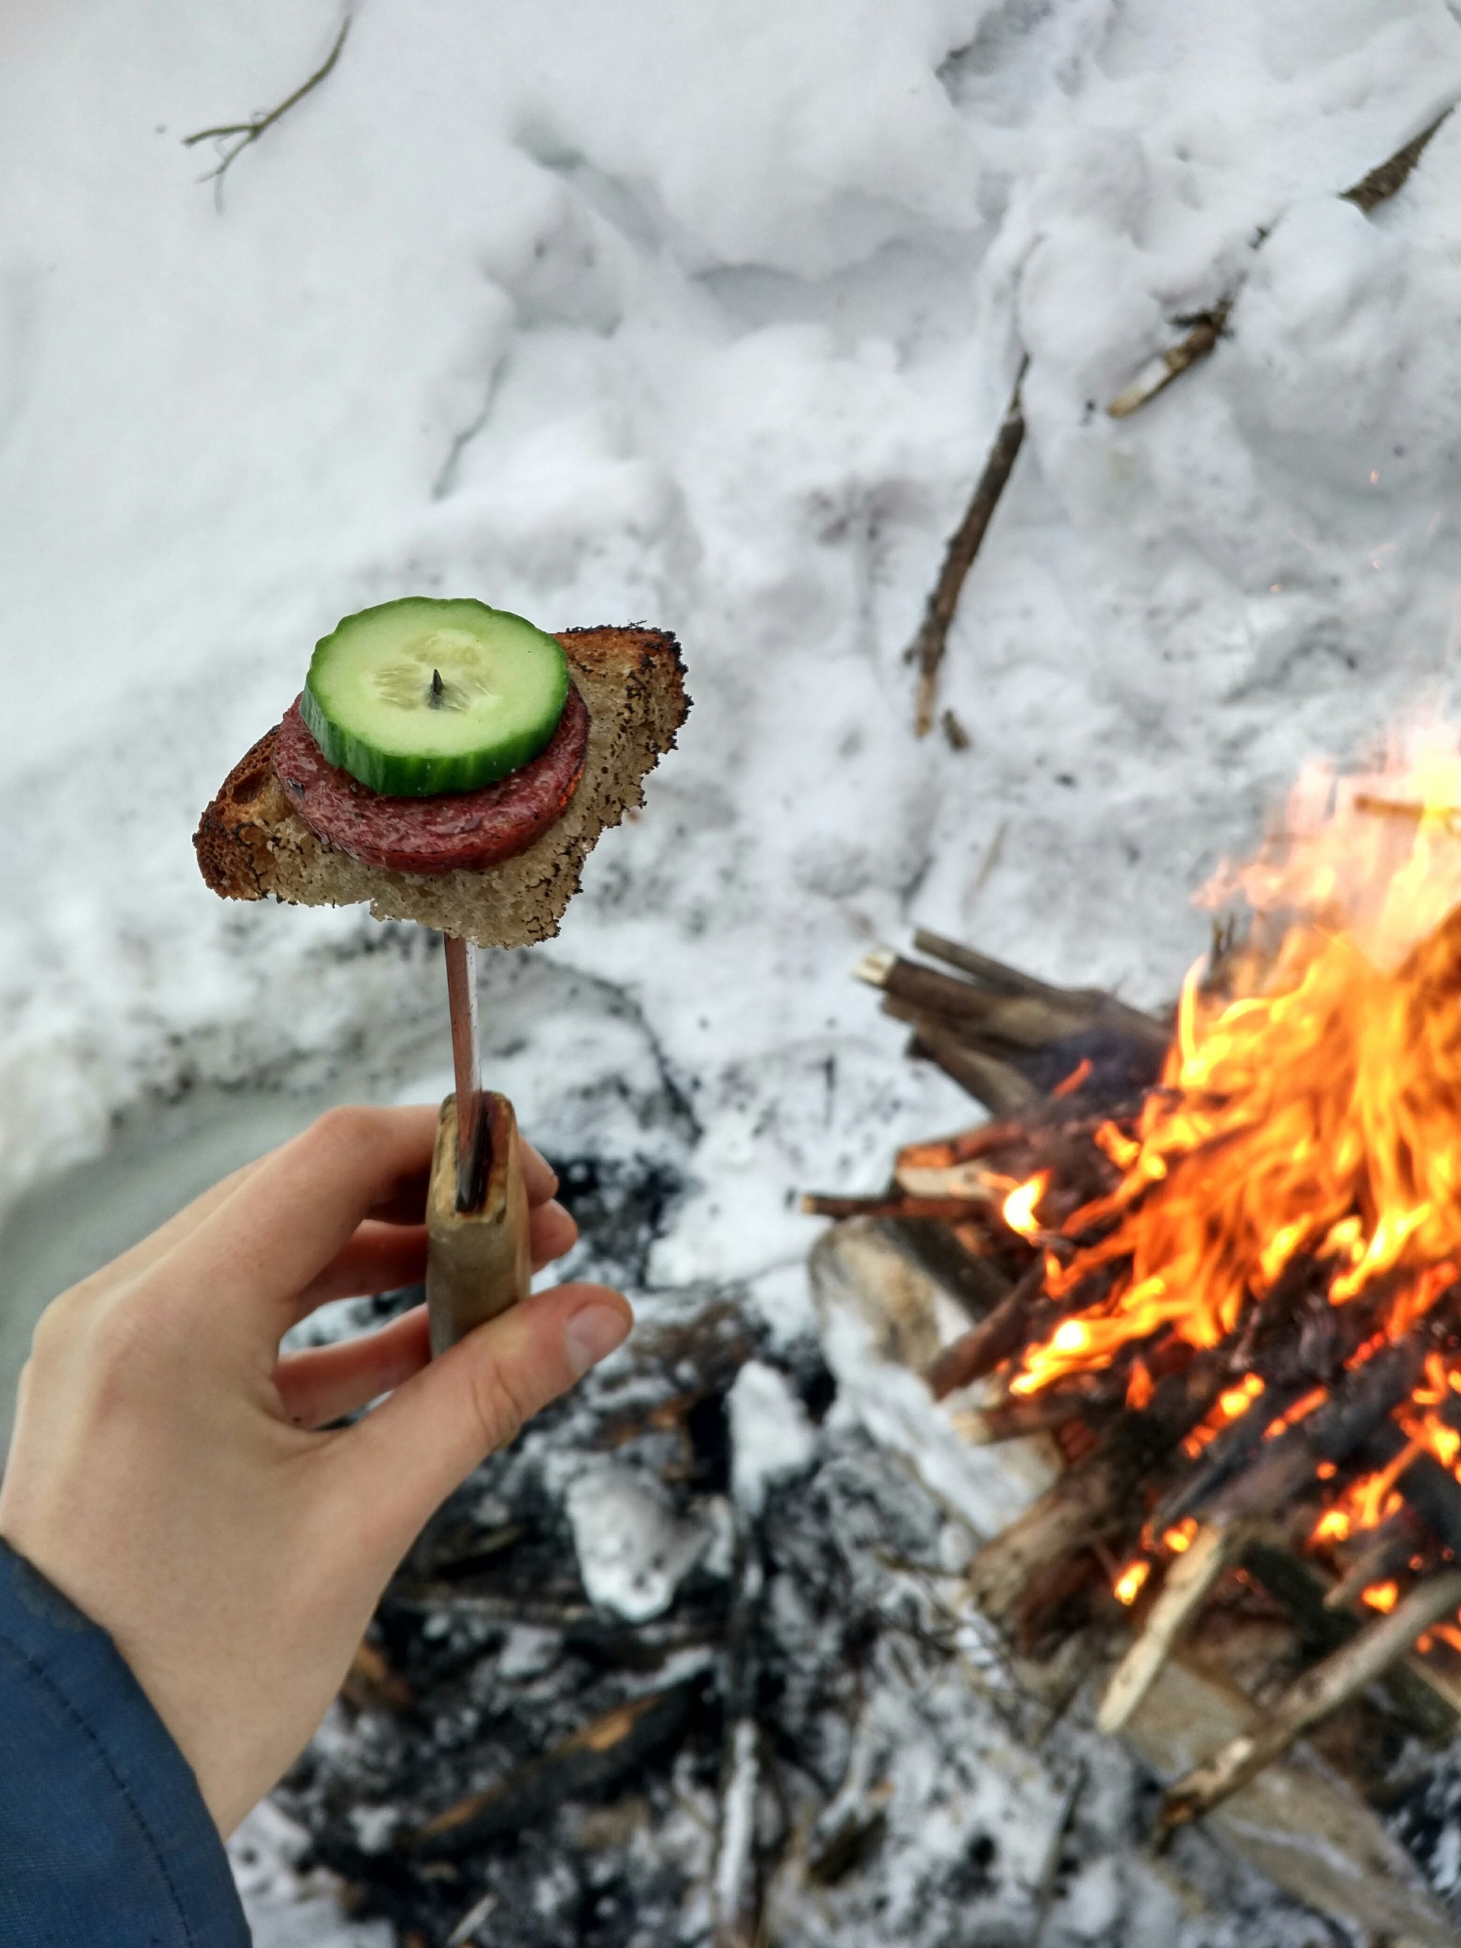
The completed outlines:
<svg viewBox="0 0 1461 1948">
<path fill-rule="evenodd" d="M 561 1175 L 579 1270 L 643 1264 L 662 1167 Z M 1079 1671 L 1036 1703 L 960 1613 L 972 1531 L 814 1332 L 742 1292 L 637 1309 L 438 1512 L 236 1841 L 259 1948 L 1329 1938 L 1200 1833 L 1149 1854 L 1155 1784 Z"/>
</svg>

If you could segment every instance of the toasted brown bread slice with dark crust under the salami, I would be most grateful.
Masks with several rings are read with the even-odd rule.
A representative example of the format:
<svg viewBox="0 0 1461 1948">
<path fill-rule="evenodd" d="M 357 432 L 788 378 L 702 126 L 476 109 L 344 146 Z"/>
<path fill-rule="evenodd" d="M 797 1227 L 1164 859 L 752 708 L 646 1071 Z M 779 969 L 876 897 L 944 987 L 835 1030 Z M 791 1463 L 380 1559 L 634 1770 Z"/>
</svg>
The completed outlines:
<svg viewBox="0 0 1461 1948">
<path fill-rule="evenodd" d="M 645 803 L 643 779 L 674 746 L 690 709 L 672 635 L 569 629 L 559 643 L 588 705 L 588 756 L 569 808 L 526 851 L 452 873 L 360 865 L 316 838 L 288 803 L 275 777 L 271 730 L 228 773 L 193 836 L 205 880 L 226 900 L 368 900 L 376 919 L 417 919 L 483 947 L 551 939 L 598 834 Z"/>
</svg>

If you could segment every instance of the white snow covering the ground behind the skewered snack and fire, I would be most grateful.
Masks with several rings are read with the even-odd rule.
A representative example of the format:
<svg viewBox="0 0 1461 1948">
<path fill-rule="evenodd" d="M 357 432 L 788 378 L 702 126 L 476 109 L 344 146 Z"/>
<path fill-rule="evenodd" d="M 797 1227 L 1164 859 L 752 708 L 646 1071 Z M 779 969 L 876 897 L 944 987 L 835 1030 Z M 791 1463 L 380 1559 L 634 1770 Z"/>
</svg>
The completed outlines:
<svg viewBox="0 0 1461 1948">
<path fill-rule="evenodd" d="M 1190 890 L 1297 762 L 1449 692 L 1461 117 L 1375 214 L 1336 191 L 1461 97 L 1461 25 L 362 0 L 216 205 L 181 138 L 282 99 L 339 23 L 0 21 L 0 1204 L 144 1099 L 427 1073 L 370 1050 L 440 1032 L 436 964 L 358 914 L 222 906 L 189 836 L 318 635 L 442 590 L 684 641 L 693 715 L 540 956 L 532 1073 L 543 1114 L 608 1103 L 569 976 L 619 995 L 699 1130 L 653 1276 L 777 1280 L 797 1186 L 966 1116 L 859 953 L 921 921 L 1167 995 Z M 1110 421 L 1233 290 L 1218 353 Z M 912 734 L 904 647 L 1023 353 L 955 750 Z"/>
</svg>

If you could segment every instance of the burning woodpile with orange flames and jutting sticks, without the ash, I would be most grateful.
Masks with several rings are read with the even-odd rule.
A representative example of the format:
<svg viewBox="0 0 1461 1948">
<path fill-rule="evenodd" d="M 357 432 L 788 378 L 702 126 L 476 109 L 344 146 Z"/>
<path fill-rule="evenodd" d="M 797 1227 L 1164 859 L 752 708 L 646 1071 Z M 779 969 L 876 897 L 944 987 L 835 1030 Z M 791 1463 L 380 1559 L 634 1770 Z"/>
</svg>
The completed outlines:
<svg viewBox="0 0 1461 1948">
<path fill-rule="evenodd" d="M 943 966 L 869 956 L 993 1120 L 906 1147 L 886 1194 L 806 1200 L 904 1225 L 980 1295 L 929 1385 L 1066 1471 L 970 1592 L 1036 1656 L 1128 1611 L 1105 1730 L 1225 1586 L 1323 1619 L 1329 1654 L 1169 1788 L 1163 1829 L 1381 1675 L 1432 1734 L 1461 1704 L 1457 738 L 1307 769 L 1204 902 L 1173 1021 L 937 935 Z"/>
</svg>

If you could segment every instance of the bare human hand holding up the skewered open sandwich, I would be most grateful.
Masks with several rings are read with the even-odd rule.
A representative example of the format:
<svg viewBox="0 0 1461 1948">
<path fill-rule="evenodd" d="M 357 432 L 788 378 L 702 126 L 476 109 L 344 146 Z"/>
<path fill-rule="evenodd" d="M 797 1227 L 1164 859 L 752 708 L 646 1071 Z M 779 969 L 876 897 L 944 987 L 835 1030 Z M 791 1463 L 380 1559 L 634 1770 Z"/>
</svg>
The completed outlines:
<svg viewBox="0 0 1461 1948">
<path fill-rule="evenodd" d="M 427 1516 L 633 1323 L 577 1284 L 434 1362 L 425 1307 L 281 1358 L 327 1299 L 423 1276 L 434 1134 L 431 1108 L 331 1110 L 35 1329 L 0 1535 L 111 1632 L 224 1835 L 319 1724 Z M 526 1145 L 524 1175 L 540 1268 L 577 1227 Z"/>
</svg>

